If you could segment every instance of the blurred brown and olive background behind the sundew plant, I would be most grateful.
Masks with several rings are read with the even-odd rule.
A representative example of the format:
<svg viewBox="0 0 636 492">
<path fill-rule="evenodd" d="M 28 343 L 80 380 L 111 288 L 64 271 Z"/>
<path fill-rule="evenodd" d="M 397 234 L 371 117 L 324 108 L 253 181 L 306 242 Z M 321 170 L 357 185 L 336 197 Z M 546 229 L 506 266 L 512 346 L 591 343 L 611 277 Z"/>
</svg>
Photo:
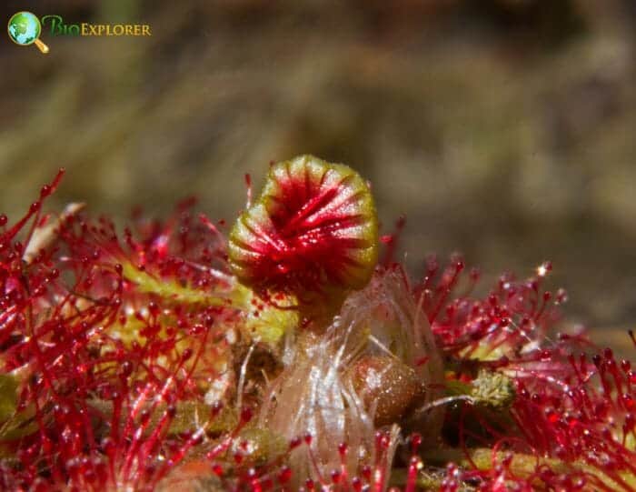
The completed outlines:
<svg viewBox="0 0 636 492">
<path fill-rule="evenodd" d="M 234 220 L 243 175 L 313 153 L 407 217 L 414 274 L 461 251 L 488 282 L 545 259 L 603 345 L 636 324 L 633 0 L 5 2 L 152 37 L 0 42 L 0 210 L 55 170 L 49 209 L 126 217 L 200 198 Z M 632 350 L 633 353 L 633 350 Z"/>
</svg>

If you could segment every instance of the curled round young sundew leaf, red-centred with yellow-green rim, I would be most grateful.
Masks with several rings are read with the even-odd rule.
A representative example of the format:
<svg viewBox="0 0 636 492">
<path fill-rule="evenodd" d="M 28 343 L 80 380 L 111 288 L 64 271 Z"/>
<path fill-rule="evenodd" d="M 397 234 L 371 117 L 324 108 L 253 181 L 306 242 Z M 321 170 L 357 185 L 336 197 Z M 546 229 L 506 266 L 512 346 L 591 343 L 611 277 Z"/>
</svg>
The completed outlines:
<svg viewBox="0 0 636 492">
<path fill-rule="evenodd" d="M 274 291 L 357 289 L 378 256 L 373 196 L 351 167 L 299 156 L 270 169 L 239 217 L 230 265 L 243 284 Z"/>
</svg>

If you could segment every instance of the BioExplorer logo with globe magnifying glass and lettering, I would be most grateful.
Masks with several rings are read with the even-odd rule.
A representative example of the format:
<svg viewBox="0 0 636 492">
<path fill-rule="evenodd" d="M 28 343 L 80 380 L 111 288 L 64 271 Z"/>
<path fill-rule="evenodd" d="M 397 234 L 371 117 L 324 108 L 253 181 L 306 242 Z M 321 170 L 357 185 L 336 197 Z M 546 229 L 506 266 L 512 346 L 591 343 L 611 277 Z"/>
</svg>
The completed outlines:
<svg viewBox="0 0 636 492">
<path fill-rule="evenodd" d="M 147 24 L 91 24 L 82 22 L 79 24 L 65 24 L 62 15 L 45 15 L 42 21 L 30 12 L 18 12 L 9 19 L 7 32 L 9 38 L 16 45 L 36 45 L 42 53 L 48 53 L 49 48 L 42 41 L 40 35 L 42 29 L 48 30 L 52 36 L 148 36 L 150 25 Z"/>
</svg>

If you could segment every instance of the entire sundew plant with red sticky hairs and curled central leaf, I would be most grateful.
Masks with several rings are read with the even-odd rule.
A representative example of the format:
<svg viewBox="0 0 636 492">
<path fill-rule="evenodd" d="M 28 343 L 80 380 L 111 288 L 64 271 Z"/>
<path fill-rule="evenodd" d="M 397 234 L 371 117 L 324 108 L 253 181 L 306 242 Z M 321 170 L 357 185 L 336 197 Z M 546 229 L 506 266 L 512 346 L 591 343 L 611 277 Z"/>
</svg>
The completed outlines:
<svg viewBox="0 0 636 492">
<path fill-rule="evenodd" d="M 556 332 L 550 263 L 412 276 L 313 156 L 227 235 L 193 201 L 45 213 L 62 176 L 0 215 L 3 490 L 636 490 L 636 371 Z"/>
</svg>

